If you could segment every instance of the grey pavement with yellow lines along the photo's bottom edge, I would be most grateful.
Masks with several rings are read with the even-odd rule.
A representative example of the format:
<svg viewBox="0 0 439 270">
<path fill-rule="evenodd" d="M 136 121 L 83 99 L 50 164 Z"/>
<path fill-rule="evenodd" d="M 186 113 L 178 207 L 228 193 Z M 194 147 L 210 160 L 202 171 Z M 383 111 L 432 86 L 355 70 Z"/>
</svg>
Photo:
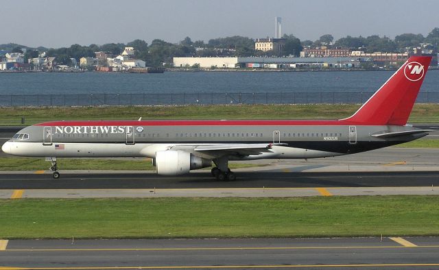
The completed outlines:
<svg viewBox="0 0 439 270">
<path fill-rule="evenodd" d="M 438 269 L 437 254 L 438 237 L 12 240 L 0 269 Z"/>
</svg>

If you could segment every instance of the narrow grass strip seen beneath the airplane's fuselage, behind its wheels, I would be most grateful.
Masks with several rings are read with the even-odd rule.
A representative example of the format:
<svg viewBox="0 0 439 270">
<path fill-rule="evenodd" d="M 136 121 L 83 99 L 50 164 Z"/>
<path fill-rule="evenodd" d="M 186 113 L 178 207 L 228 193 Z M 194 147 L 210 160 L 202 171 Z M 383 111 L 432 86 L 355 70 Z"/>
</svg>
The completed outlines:
<svg viewBox="0 0 439 270">
<path fill-rule="evenodd" d="M 60 170 L 154 170 L 151 159 L 57 159 Z M 43 158 L 1 157 L 0 171 L 48 170 Z M 258 167 L 265 164 L 230 163 L 231 169 Z"/>
</svg>

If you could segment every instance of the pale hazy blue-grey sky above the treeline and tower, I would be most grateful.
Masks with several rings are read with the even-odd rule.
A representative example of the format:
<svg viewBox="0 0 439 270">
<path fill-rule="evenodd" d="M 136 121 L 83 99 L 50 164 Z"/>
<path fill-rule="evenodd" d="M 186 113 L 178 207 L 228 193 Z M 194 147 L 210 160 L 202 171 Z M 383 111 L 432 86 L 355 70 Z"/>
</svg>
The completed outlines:
<svg viewBox="0 0 439 270">
<path fill-rule="evenodd" d="M 388 36 L 439 27 L 437 0 L 2 0 L 0 44 L 58 48 L 156 38 L 179 42 L 282 33 L 317 40 L 331 33 Z"/>
</svg>

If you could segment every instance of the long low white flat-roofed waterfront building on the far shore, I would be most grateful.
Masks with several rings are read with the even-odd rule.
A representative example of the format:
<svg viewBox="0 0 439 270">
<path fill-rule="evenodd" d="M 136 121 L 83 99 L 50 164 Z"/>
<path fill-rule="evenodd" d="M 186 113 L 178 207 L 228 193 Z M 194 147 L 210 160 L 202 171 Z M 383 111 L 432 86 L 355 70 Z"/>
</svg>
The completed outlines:
<svg viewBox="0 0 439 270">
<path fill-rule="evenodd" d="M 184 68 L 358 68 L 361 57 L 174 57 L 174 66 Z"/>
</svg>

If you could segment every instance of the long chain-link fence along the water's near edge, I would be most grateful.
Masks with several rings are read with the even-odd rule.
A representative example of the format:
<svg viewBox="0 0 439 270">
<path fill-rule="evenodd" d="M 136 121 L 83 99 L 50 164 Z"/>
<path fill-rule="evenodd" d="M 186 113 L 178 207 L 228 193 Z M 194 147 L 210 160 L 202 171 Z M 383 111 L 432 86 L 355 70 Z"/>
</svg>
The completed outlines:
<svg viewBox="0 0 439 270">
<path fill-rule="evenodd" d="M 271 92 L 174 94 L 34 94 L 0 95 L 0 107 L 227 105 L 227 104 L 356 104 L 372 92 Z M 421 92 L 417 103 L 439 103 L 439 92 Z"/>
</svg>

